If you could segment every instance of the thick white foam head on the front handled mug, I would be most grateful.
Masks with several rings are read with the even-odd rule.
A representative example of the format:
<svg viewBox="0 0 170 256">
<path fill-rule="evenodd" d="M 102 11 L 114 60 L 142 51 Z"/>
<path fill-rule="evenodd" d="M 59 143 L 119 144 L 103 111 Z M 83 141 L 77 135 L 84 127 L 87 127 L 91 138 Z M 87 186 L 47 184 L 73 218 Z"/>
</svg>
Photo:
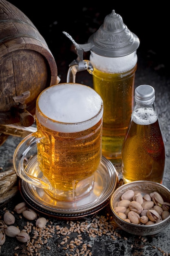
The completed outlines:
<svg viewBox="0 0 170 256">
<path fill-rule="evenodd" d="M 100 112 L 102 99 L 99 94 L 86 85 L 76 83 L 63 83 L 47 88 L 40 94 L 38 104 L 49 119 L 43 118 L 37 111 L 36 117 L 44 126 L 58 132 L 88 129 L 97 124 L 103 115 L 103 110 Z M 96 117 L 98 112 L 100 114 Z"/>
</svg>

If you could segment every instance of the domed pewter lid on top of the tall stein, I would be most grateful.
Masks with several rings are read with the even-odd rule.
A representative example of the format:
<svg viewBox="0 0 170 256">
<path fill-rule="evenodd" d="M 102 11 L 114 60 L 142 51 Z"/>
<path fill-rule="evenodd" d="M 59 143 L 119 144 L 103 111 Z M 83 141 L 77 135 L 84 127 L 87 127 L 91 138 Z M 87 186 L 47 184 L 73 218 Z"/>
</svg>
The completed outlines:
<svg viewBox="0 0 170 256">
<path fill-rule="evenodd" d="M 124 24 L 115 10 L 108 14 L 104 23 L 88 39 L 91 51 L 106 57 L 121 57 L 135 52 L 139 47 L 139 38 Z"/>
</svg>

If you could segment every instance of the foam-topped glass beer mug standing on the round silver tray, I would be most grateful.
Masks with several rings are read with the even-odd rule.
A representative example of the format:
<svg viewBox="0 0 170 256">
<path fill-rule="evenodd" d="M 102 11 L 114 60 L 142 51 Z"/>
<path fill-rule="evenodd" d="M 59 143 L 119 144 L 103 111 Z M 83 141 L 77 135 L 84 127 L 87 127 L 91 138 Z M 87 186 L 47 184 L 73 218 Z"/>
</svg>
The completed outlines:
<svg viewBox="0 0 170 256">
<path fill-rule="evenodd" d="M 17 175 L 56 200 L 84 197 L 93 189 L 102 159 L 102 98 L 86 85 L 53 85 L 39 94 L 35 118 L 37 131 L 26 136 L 13 155 Z M 42 177 L 24 168 L 34 146 Z"/>
</svg>

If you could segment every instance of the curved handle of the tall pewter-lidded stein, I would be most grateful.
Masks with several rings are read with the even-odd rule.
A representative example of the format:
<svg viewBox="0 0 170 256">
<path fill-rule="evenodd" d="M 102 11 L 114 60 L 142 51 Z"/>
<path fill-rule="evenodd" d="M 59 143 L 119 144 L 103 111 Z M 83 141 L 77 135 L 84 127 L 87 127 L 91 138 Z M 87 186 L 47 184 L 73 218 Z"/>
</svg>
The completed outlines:
<svg viewBox="0 0 170 256">
<path fill-rule="evenodd" d="M 83 60 L 75 65 L 71 65 L 67 73 L 67 83 L 75 83 L 75 77 L 77 72 L 83 71 L 83 70 L 88 70 L 90 74 L 93 73 L 93 66 L 90 61 Z"/>
</svg>

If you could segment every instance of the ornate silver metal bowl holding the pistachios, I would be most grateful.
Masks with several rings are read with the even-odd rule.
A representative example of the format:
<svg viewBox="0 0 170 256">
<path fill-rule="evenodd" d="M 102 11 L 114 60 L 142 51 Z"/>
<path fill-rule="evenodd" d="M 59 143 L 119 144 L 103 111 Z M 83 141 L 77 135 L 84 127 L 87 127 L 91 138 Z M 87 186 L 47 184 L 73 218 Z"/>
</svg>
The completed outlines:
<svg viewBox="0 0 170 256">
<path fill-rule="evenodd" d="M 120 186 L 118 189 L 115 190 L 110 198 L 110 207 L 113 212 L 113 218 L 117 225 L 121 227 L 121 229 L 131 234 L 147 236 L 157 234 L 169 225 L 170 215 L 166 219 L 161 220 L 160 222 L 157 222 L 153 225 L 128 223 L 120 218 L 115 212 L 114 208 L 117 204 L 117 201 L 120 200 L 121 195 L 128 190 L 138 191 L 142 194 L 150 194 L 156 191 L 162 196 L 164 202 L 170 203 L 170 190 L 162 184 L 150 181 L 135 181 Z"/>
</svg>

